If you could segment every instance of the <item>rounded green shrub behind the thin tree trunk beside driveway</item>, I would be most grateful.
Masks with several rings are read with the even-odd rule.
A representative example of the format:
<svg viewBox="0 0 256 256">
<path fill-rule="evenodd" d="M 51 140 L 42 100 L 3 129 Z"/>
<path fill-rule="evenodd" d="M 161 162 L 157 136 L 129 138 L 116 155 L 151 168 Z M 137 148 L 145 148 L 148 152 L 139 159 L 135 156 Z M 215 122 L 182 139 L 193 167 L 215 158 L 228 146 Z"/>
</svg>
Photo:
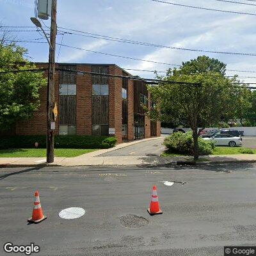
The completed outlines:
<svg viewBox="0 0 256 256">
<path fill-rule="evenodd" d="M 166 137 L 163 144 L 168 148 L 168 152 L 193 155 L 194 141 L 192 132 L 175 132 Z M 212 154 L 214 148 L 213 141 L 205 141 L 202 138 L 198 138 L 198 152 L 201 156 Z"/>
</svg>

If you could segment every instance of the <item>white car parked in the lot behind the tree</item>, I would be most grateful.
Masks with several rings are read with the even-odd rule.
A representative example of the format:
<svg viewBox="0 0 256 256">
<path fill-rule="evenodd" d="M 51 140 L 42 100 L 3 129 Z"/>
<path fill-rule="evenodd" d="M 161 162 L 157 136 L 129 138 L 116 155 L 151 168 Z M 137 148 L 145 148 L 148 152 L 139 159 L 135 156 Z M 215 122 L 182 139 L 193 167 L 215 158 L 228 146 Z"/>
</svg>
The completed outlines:
<svg viewBox="0 0 256 256">
<path fill-rule="evenodd" d="M 212 140 L 214 141 L 216 146 L 229 146 L 229 147 L 236 147 L 242 145 L 242 140 L 240 136 L 232 136 L 230 134 L 223 134 L 218 132 L 211 138 L 203 138 L 203 140 Z"/>
</svg>

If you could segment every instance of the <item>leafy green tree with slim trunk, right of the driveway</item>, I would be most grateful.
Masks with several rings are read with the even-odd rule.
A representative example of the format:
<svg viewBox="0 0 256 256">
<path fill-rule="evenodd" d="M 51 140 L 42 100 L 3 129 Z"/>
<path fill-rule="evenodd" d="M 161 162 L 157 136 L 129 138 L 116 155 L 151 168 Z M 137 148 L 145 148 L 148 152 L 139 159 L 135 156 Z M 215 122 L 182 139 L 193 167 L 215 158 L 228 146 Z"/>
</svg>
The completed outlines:
<svg viewBox="0 0 256 256">
<path fill-rule="evenodd" d="M 224 63 L 207 56 L 182 63 L 179 69 L 168 70 L 165 77 L 168 82 L 179 81 L 198 83 L 200 87 L 189 84 L 161 83 L 150 87 L 152 99 L 157 108 L 149 109 L 150 118 L 164 122 L 180 120 L 193 131 L 194 159 L 198 160 L 198 127 L 218 124 L 220 120 L 234 116 L 236 104 L 236 77 L 228 79 Z M 161 111 L 159 111 L 161 109 Z"/>
</svg>

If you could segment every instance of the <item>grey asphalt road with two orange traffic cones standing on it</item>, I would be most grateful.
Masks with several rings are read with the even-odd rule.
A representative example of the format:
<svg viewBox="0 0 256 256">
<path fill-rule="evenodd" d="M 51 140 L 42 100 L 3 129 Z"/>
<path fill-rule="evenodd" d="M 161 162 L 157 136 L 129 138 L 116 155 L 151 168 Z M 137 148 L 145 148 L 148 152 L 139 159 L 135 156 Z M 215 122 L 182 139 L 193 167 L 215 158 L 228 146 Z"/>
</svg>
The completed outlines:
<svg viewBox="0 0 256 256">
<path fill-rule="evenodd" d="M 163 214 L 149 216 L 154 184 Z M 48 218 L 27 225 L 36 189 Z M 86 213 L 63 220 L 67 207 Z M 256 243 L 256 165 L 0 169 L 0 215 L 0 255 L 20 255 L 4 253 L 6 242 L 34 242 L 32 255 L 220 256 Z"/>
</svg>

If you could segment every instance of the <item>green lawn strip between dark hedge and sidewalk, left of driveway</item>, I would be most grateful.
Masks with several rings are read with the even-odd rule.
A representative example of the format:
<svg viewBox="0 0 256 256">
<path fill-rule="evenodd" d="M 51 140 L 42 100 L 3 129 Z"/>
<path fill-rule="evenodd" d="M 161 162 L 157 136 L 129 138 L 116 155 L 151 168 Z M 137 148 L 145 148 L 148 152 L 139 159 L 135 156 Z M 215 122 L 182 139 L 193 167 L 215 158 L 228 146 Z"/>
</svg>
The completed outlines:
<svg viewBox="0 0 256 256">
<path fill-rule="evenodd" d="M 76 157 L 86 153 L 93 152 L 97 149 L 81 148 L 55 148 L 54 156 L 56 157 Z M 46 157 L 45 148 L 13 148 L 1 149 L 0 157 Z"/>
</svg>

